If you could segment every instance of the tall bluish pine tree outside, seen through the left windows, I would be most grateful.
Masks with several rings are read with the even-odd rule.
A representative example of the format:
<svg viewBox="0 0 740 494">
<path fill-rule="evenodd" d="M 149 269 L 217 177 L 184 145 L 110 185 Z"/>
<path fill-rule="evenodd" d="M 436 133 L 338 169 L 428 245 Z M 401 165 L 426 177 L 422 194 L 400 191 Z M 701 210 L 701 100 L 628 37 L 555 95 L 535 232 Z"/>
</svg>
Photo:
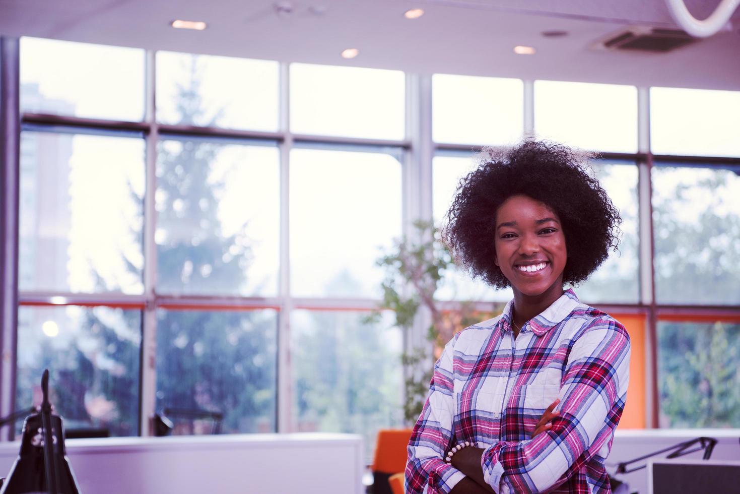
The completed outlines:
<svg viewBox="0 0 740 494">
<path fill-rule="evenodd" d="M 206 112 L 197 59 L 192 57 L 189 79 L 178 87 L 183 124 L 202 122 Z M 219 116 L 216 112 L 206 125 L 215 125 Z M 237 295 L 245 284 L 248 225 L 223 236 L 218 218 L 223 183 L 212 180 L 212 164 L 224 145 L 172 138 L 158 149 L 157 227 L 165 233 L 158 238 L 158 293 Z M 132 195 L 143 206 L 144 198 Z M 142 244 L 142 231 L 141 224 L 132 225 L 130 240 Z M 141 272 L 126 262 L 129 272 Z M 98 277 L 97 285 L 115 290 L 114 280 Z M 112 435 L 135 435 L 141 312 L 95 307 L 84 313 L 81 327 L 90 331 L 81 332 L 66 355 L 42 351 L 53 375 L 58 370 L 58 413 L 74 423 L 107 427 Z M 159 310 L 157 406 L 223 413 L 223 432 L 274 429 L 276 332 L 276 318 L 266 313 Z M 192 422 L 178 430 L 192 433 Z"/>
</svg>

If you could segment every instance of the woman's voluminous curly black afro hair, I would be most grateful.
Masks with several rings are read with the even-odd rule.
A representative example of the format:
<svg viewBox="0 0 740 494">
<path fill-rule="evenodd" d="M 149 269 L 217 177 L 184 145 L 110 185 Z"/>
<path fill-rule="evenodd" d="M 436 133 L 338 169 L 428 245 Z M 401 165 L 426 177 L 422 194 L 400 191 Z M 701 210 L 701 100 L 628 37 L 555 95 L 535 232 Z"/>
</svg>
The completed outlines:
<svg viewBox="0 0 740 494">
<path fill-rule="evenodd" d="M 511 196 L 546 204 L 560 217 L 568 261 L 563 283 L 584 281 L 618 250 L 622 218 L 599 181 L 582 164 L 588 156 L 548 141 L 527 139 L 516 147 L 480 154 L 477 170 L 460 180 L 443 227 L 458 264 L 493 287 L 510 285 L 494 264 L 496 212 Z"/>
</svg>

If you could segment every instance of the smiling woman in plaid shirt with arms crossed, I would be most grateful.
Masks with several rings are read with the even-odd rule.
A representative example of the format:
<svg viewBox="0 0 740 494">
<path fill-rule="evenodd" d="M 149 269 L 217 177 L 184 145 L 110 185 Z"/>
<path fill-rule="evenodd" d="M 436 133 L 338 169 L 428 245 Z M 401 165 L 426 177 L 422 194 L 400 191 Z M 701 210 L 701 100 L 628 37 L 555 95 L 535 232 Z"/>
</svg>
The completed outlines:
<svg viewBox="0 0 740 494">
<path fill-rule="evenodd" d="M 609 493 L 630 339 L 564 284 L 616 249 L 621 218 L 579 157 L 524 141 L 461 181 L 444 230 L 473 276 L 511 286 L 501 316 L 457 333 L 408 445 L 407 493 Z"/>
</svg>

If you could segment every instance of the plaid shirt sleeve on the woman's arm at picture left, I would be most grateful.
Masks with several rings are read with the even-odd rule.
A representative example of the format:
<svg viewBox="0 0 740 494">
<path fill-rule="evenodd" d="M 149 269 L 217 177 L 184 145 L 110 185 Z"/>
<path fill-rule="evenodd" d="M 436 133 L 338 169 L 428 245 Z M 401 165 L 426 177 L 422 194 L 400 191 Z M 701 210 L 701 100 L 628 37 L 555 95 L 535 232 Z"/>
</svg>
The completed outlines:
<svg viewBox="0 0 740 494">
<path fill-rule="evenodd" d="M 453 440 L 452 356 L 457 335 L 434 364 L 429 394 L 408 444 L 406 493 L 449 493 L 465 476 L 444 460 Z"/>
</svg>

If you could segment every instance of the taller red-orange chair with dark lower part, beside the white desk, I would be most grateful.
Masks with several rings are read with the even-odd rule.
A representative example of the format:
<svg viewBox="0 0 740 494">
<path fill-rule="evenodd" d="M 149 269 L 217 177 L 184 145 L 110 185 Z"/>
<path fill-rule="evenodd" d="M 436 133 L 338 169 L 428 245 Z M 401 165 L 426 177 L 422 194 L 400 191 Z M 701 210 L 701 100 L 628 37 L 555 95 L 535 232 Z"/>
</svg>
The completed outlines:
<svg viewBox="0 0 740 494">
<path fill-rule="evenodd" d="M 383 429 L 377 433 L 375 457 L 372 462 L 373 494 L 403 493 L 403 471 L 406 470 L 406 447 L 412 429 Z M 400 490 L 391 487 L 389 479 L 400 473 Z"/>
</svg>

